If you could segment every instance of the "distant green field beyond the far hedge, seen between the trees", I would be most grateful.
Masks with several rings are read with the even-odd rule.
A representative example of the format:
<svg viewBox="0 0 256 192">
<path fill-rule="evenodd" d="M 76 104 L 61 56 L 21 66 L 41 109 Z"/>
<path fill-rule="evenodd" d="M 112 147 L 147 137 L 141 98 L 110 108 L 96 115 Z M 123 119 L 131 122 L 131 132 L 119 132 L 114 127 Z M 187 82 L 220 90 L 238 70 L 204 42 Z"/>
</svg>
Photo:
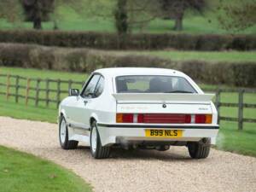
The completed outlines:
<svg viewBox="0 0 256 192">
<path fill-rule="evenodd" d="M 86 7 L 87 9 L 87 7 Z M 90 8 L 89 8 L 90 9 Z M 86 10 L 85 10 L 86 11 Z M 101 11 L 104 12 L 102 9 Z M 109 11 L 109 10 L 108 10 Z M 114 22 L 109 16 L 108 18 L 95 17 L 92 15 L 84 15 L 83 13 L 77 14 L 73 9 L 66 6 L 61 6 L 57 11 L 58 26 L 59 29 L 65 31 L 94 31 L 94 32 L 114 32 Z M 207 12 L 204 15 L 192 15 L 186 13 L 183 20 L 183 32 L 187 33 L 214 33 L 223 34 L 230 33 L 222 29 L 218 24 L 218 13 L 212 11 Z M 148 23 L 147 26 L 134 27 L 133 32 L 151 32 L 151 33 L 166 33 L 175 32 L 172 30 L 174 26 L 173 20 L 161 20 L 156 19 Z M 44 22 L 44 29 L 53 29 L 52 22 Z M 32 28 L 31 22 L 16 22 L 9 23 L 6 20 L 0 20 L 0 29 L 24 29 Z M 254 34 L 256 32 L 256 26 L 247 28 L 239 33 Z M 234 32 L 233 32 L 234 33 Z"/>
</svg>

